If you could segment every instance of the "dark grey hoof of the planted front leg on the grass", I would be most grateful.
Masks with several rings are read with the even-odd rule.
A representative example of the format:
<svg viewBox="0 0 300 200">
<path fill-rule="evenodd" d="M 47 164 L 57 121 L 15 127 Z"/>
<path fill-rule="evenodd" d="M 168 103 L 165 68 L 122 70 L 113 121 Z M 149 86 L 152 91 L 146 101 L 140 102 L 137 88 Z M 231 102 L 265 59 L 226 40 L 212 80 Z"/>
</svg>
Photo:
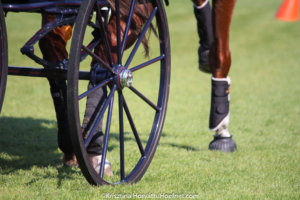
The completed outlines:
<svg viewBox="0 0 300 200">
<path fill-rule="evenodd" d="M 237 147 L 235 141 L 232 139 L 232 136 L 214 136 L 214 139 L 210 142 L 208 148 L 212 151 L 234 152 Z"/>
</svg>

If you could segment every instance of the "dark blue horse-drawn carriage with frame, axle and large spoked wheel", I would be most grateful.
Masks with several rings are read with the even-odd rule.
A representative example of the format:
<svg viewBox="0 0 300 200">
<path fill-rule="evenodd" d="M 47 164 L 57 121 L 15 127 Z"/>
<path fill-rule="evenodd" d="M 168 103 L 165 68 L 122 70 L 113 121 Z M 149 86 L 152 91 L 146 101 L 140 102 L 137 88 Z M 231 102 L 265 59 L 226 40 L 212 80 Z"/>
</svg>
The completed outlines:
<svg viewBox="0 0 300 200">
<path fill-rule="evenodd" d="M 167 27 L 166 14 L 164 11 L 164 5 L 161 0 L 147 1 L 147 6 L 151 7 L 148 19 L 143 22 L 139 35 L 136 36 L 134 43 L 130 47 L 126 47 L 129 41 L 129 33 L 131 31 L 132 18 L 136 7 L 142 5 L 142 0 L 128 0 L 130 6 L 128 9 L 128 15 L 126 17 L 120 14 L 120 1 L 115 1 L 115 7 L 106 0 L 54 0 L 54 1 L 41 1 L 41 0 L 4 0 L 0 3 L 0 111 L 2 108 L 4 93 L 6 88 L 7 75 L 16 76 L 28 76 L 28 77 L 44 77 L 48 79 L 59 79 L 67 82 L 67 117 L 69 130 L 71 134 L 72 146 L 74 148 L 76 157 L 79 162 L 79 166 L 88 180 L 89 183 L 95 185 L 102 184 L 120 184 L 127 182 L 139 181 L 146 172 L 158 145 L 158 141 L 161 135 L 161 131 L 164 124 L 166 107 L 169 93 L 170 83 L 170 41 L 169 32 Z M 3 12 L 3 11 L 4 12 Z M 113 11 L 112 11 L 113 10 Z M 109 12 L 112 11 L 112 14 Z M 8 45 L 6 37 L 5 16 L 7 12 L 30 12 L 30 13 L 46 13 L 54 14 L 57 17 L 54 21 L 46 23 L 38 30 L 21 48 L 22 54 L 26 55 L 30 59 L 34 60 L 39 67 L 19 67 L 8 65 Z M 110 19 L 116 19 L 116 34 L 117 46 L 112 47 L 110 41 L 112 34 L 108 30 Z M 123 20 L 123 21 L 122 21 Z M 121 23 L 126 24 L 125 28 L 121 27 Z M 155 26 L 152 26 L 154 24 Z M 39 41 L 44 38 L 49 32 L 53 31 L 57 27 L 72 26 L 73 36 L 71 39 L 71 48 L 69 50 L 69 57 L 66 61 L 59 63 L 51 63 L 35 54 L 34 47 Z M 153 55 L 151 57 L 144 57 L 143 51 L 139 50 L 139 46 L 142 46 L 142 42 L 146 37 L 146 33 L 149 32 L 151 27 L 155 27 L 155 34 L 153 43 Z M 125 35 L 126 37 L 122 36 Z M 129 38 L 129 39 L 128 39 Z M 127 40 L 128 39 L 128 40 Z M 152 45 L 151 43 L 151 45 Z M 105 55 L 107 58 L 97 56 L 94 51 L 99 45 L 104 47 Z M 128 45 L 127 45 L 128 46 Z M 115 52 L 113 52 L 116 49 Z M 125 52 L 126 49 L 127 52 Z M 112 54 L 115 54 L 116 60 L 112 59 Z M 125 55 L 126 54 L 126 55 Z M 137 56 L 137 55 L 143 56 Z M 135 57 L 143 57 L 144 60 L 135 62 Z M 101 70 L 94 68 L 94 65 L 86 67 L 84 60 L 96 60 L 97 64 L 101 66 Z M 108 61 L 107 61 L 108 60 Z M 95 66 L 98 66 L 95 65 Z M 152 67 L 155 72 L 151 72 L 149 66 Z M 146 70 L 146 76 L 142 75 L 140 81 L 146 81 L 151 87 L 155 85 L 154 90 L 156 92 L 145 93 L 140 92 L 137 88 L 138 84 L 132 85 L 132 76 L 136 72 Z M 141 74 L 141 73 L 136 73 Z M 146 78 L 145 78 L 146 77 Z M 138 79 L 138 78 L 137 78 Z M 149 79 L 147 81 L 147 79 Z M 81 83 L 92 82 L 93 88 L 82 89 Z M 153 82 L 156 83 L 154 84 Z M 137 81 L 138 83 L 138 81 Z M 144 85 L 144 84 L 143 84 Z M 97 108 L 94 111 L 94 119 L 90 122 L 90 127 L 85 130 L 82 125 L 83 116 L 82 110 L 85 103 L 82 103 L 82 99 L 86 99 L 91 93 L 97 91 L 99 88 L 107 88 L 108 93 L 103 106 Z M 133 103 L 125 101 L 127 98 L 128 90 L 132 93 L 132 96 L 138 97 Z M 154 93 L 154 97 L 148 96 Z M 119 159 L 116 165 L 120 166 L 119 169 L 115 169 L 116 174 L 119 177 L 108 178 L 103 175 L 104 163 L 107 150 L 110 149 L 110 134 L 112 125 L 112 110 L 114 104 L 114 94 L 118 94 L 118 98 L 115 103 L 118 105 L 118 125 L 113 130 L 118 130 L 118 153 L 116 154 Z M 131 97 L 128 97 L 131 100 Z M 140 117 L 141 120 L 136 120 L 134 116 L 134 109 L 130 109 L 131 105 L 137 105 L 140 101 L 142 106 L 146 107 L 145 110 L 150 110 L 147 114 Z M 150 108 L 150 109 L 149 109 Z M 125 113 L 123 116 L 123 112 Z M 107 118 L 104 119 L 104 116 Z M 127 126 L 125 125 L 125 116 L 127 117 Z M 149 120 L 148 120 L 149 119 Z M 148 120 L 148 129 L 144 129 L 142 126 L 145 124 L 145 120 Z M 100 171 L 95 171 L 94 166 L 89 160 L 87 154 L 87 146 L 93 134 L 93 131 L 97 124 L 106 124 L 106 129 L 103 141 L 103 154 L 100 164 Z M 141 121 L 141 125 L 137 123 Z M 126 130 L 127 129 L 127 130 Z M 126 131 L 126 132 L 125 132 Z M 131 133 L 134 144 L 127 145 L 128 135 L 125 138 L 127 132 Z M 145 132 L 145 134 L 144 134 Z M 83 134 L 86 133 L 83 137 Z M 0 131 L 1 134 L 1 131 Z M 126 144 L 126 145 L 125 145 Z M 132 145 L 137 146 L 137 155 L 133 156 L 136 159 L 132 162 L 133 158 L 130 158 L 127 162 L 127 158 L 132 156 L 126 153 L 126 148 Z M 116 146 L 113 141 L 112 146 Z M 131 148 L 131 147 L 130 147 Z M 135 154 L 135 153 L 134 153 Z M 128 156 L 129 155 L 129 156 Z M 128 156 L 128 157 L 127 157 Z M 125 162 L 126 160 L 126 162 Z M 128 163 L 130 164 L 127 167 Z"/>
</svg>

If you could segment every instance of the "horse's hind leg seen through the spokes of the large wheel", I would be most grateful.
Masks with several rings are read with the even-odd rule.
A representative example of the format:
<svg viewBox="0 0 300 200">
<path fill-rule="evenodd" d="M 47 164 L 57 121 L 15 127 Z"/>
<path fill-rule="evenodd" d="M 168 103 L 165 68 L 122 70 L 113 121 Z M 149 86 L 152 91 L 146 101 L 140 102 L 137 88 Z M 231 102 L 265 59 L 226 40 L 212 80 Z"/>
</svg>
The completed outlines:
<svg viewBox="0 0 300 200">
<path fill-rule="evenodd" d="M 115 8 L 114 1 L 109 0 L 109 3 L 112 5 L 113 8 Z M 128 10 L 129 6 L 131 4 L 130 0 L 124 0 L 120 2 L 120 38 L 121 40 L 124 39 L 124 32 L 126 28 L 126 22 L 128 18 Z M 144 21 L 148 19 L 148 13 L 150 13 L 153 10 L 153 6 L 150 3 L 139 3 L 137 4 L 134 14 L 132 17 L 131 25 L 135 28 L 130 27 L 127 35 L 125 50 L 130 48 L 134 42 L 137 40 L 140 32 L 137 30 L 141 30 Z M 126 13 L 125 13 L 126 12 Z M 143 13 L 143 15 L 141 14 Z M 106 63 L 109 63 L 110 61 L 113 64 L 118 64 L 118 53 L 117 53 L 117 19 L 115 15 L 115 10 L 113 9 L 112 15 L 109 19 L 109 22 L 107 24 L 107 33 L 108 33 L 108 43 L 110 46 L 110 52 L 108 55 L 106 51 L 106 46 L 104 41 L 102 41 L 99 45 L 95 48 L 95 54 L 98 55 L 100 58 L 102 58 L 103 61 Z M 144 42 L 143 42 L 144 43 Z M 144 47 L 147 46 L 147 44 L 144 44 Z M 146 50 L 146 49 L 145 49 Z M 147 50 L 146 50 L 147 53 Z M 111 57 L 111 60 L 109 59 Z M 92 67 L 100 67 L 100 64 L 96 62 L 96 60 L 93 60 L 91 63 Z M 89 88 L 93 87 L 94 83 L 89 83 Z M 106 87 L 103 87 L 101 89 L 98 89 L 98 94 L 96 92 L 91 93 L 87 97 L 87 105 L 86 105 L 86 113 L 85 113 L 85 119 L 83 122 L 83 127 L 88 126 L 88 123 L 90 121 L 90 116 L 92 116 L 93 110 L 95 110 L 97 106 L 97 99 L 102 99 L 103 97 L 107 96 Z M 101 123 L 100 123 L 101 124 Z M 99 132 L 102 132 L 102 125 L 99 127 Z M 102 134 L 101 134 L 102 135 Z M 102 150 L 101 150 L 102 152 Z"/>
</svg>

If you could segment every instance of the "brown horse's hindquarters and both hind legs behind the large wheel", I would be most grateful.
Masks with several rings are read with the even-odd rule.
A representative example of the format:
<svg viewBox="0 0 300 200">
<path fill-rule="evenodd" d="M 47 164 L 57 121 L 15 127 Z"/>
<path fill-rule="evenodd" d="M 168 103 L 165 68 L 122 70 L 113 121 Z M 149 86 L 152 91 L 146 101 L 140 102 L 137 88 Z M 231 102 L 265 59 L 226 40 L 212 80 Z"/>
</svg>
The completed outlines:
<svg viewBox="0 0 300 200">
<path fill-rule="evenodd" d="M 108 0 L 112 8 L 112 12 L 115 12 L 115 1 Z M 121 25 L 121 37 L 124 35 L 124 30 L 126 26 L 127 13 L 130 8 L 131 0 L 120 1 L 120 25 Z M 149 15 L 153 7 L 151 3 L 147 3 L 144 0 L 139 0 L 137 6 L 135 7 L 134 14 L 132 16 L 132 23 L 128 32 L 128 39 L 126 42 L 125 49 L 131 47 L 139 36 L 142 30 L 142 26 L 149 18 Z M 55 20 L 55 14 L 42 14 L 42 25 L 45 25 L 53 20 Z M 108 37 L 111 46 L 111 59 L 113 63 L 117 63 L 117 19 L 116 15 L 112 14 L 109 18 L 107 29 Z M 151 27 L 151 30 L 155 30 Z M 56 27 L 54 30 L 50 31 L 39 41 L 39 47 L 43 55 L 43 59 L 51 63 L 64 62 L 68 58 L 68 52 L 66 50 L 68 27 L 61 26 Z M 149 53 L 148 47 L 148 37 L 144 37 L 142 43 L 145 49 L 145 56 Z M 104 62 L 109 63 L 109 56 L 105 51 L 105 43 L 100 42 L 94 49 L 94 52 L 99 56 Z M 95 60 L 92 61 L 91 67 L 97 65 Z M 62 162 L 65 166 L 77 166 L 77 159 L 72 147 L 71 136 L 68 126 L 68 116 L 67 116 L 67 83 L 63 79 L 59 78 L 48 78 L 50 85 L 50 92 L 54 102 L 54 107 L 56 111 L 56 118 L 58 124 L 58 146 L 64 153 Z M 88 88 L 92 88 L 92 83 L 89 83 Z M 95 109 L 98 106 L 102 106 L 104 99 L 107 97 L 106 87 L 98 89 L 96 92 L 88 95 L 85 116 L 83 119 L 83 127 L 89 126 L 90 119 L 94 114 Z M 97 127 L 97 133 L 92 139 L 92 145 L 87 148 L 89 155 L 91 155 L 92 165 L 99 166 L 99 156 L 102 154 L 102 123 L 99 123 Z M 109 162 L 107 162 L 109 163 Z M 106 166 L 105 173 L 108 176 L 113 176 L 110 166 Z"/>
</svg>

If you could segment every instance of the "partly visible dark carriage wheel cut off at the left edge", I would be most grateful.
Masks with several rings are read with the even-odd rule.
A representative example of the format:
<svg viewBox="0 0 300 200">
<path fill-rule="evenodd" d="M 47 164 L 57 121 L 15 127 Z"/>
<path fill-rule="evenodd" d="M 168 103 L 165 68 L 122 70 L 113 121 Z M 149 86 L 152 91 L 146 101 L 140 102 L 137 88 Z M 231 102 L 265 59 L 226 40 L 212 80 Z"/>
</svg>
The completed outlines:
<svg viewBox="0 0 300 200">
<path fill-rule="evenodd" d="M 8 65 L 8 53 L 7 53 L 7 36 L 6 25 L 3 14 L 2 4 L 0 2 L 0 112 L 4 100 L 4 93 L 7 79 L 7 65 Z"/>
</svg>

